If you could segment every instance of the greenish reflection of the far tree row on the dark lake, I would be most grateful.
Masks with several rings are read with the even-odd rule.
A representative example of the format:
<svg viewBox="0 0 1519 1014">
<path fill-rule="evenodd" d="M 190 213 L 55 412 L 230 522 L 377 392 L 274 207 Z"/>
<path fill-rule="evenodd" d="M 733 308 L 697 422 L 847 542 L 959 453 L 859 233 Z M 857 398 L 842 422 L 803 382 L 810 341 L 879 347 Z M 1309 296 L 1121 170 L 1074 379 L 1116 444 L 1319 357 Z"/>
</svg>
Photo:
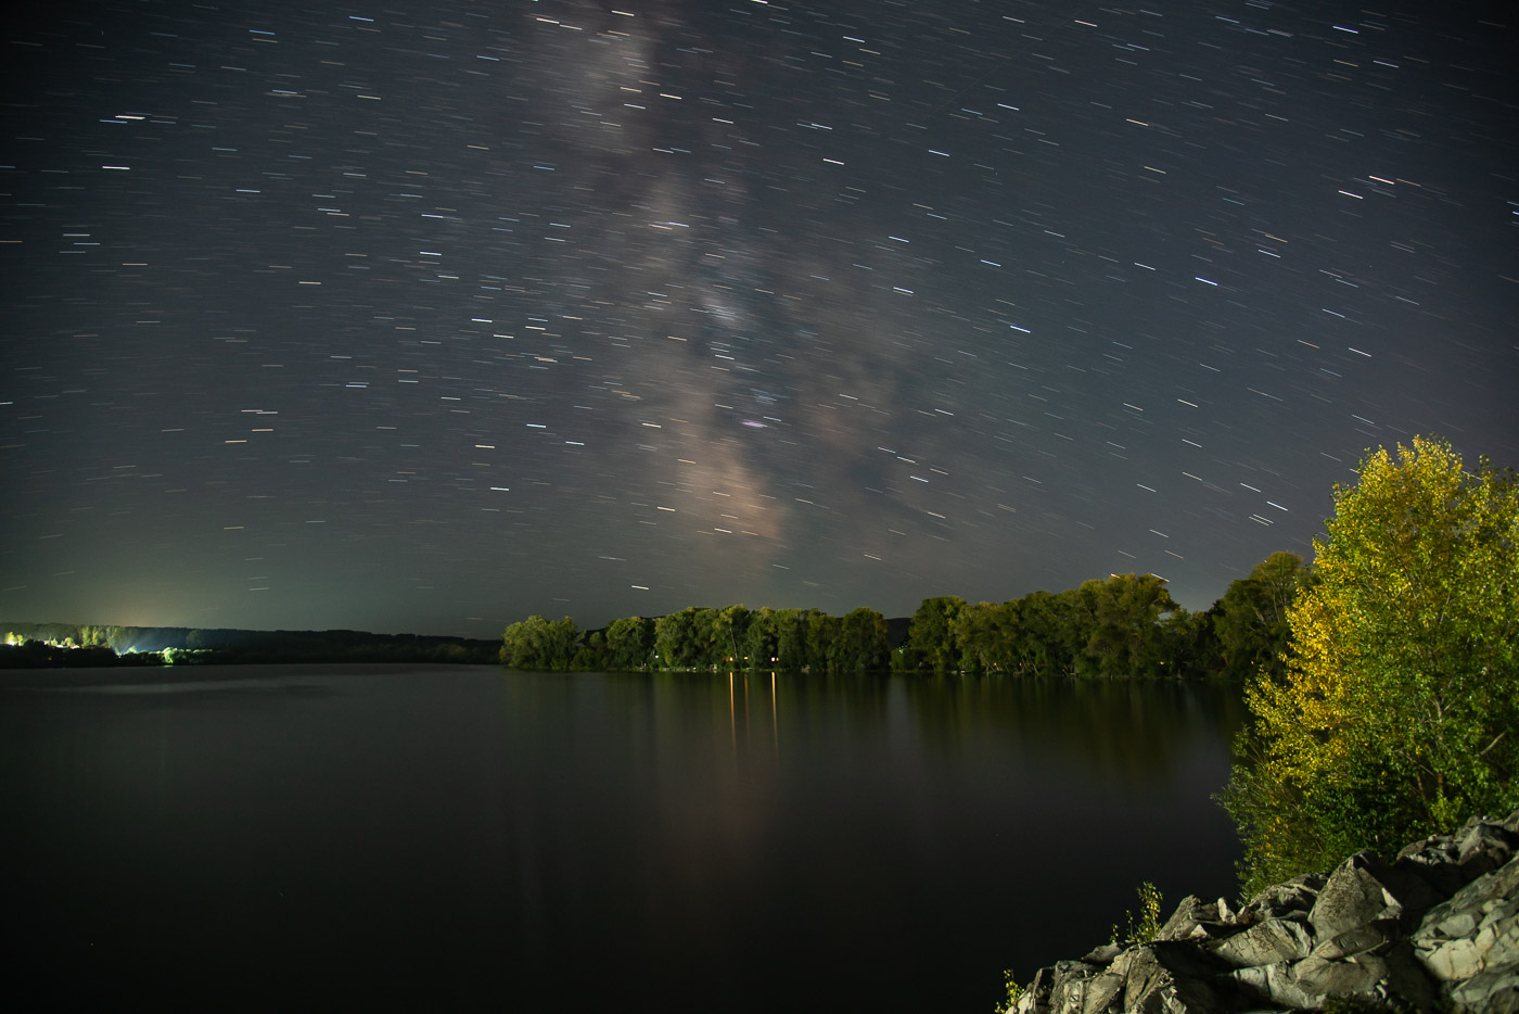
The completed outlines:
<svg viewBox="0 0 1519 1014">
<path fill-rule="evenodd" d="M 647 711 L 650 733 L 702 739 L 706 722 L 720 716 L 729 756 L 746 762 L 760 742 L 779 759 L 782 742 L 814 736 L 884 736 L 896 749 L 924 751 L 963 751 L 993 737 L 1003 748 L 1053 754 L 1098 775 L 1154 780 L 1174 775 L 1200 743 L 1229 743 L 1246 721 L 1230 684 L 775 672 L 504 680 L 513 699 L 524 680 L 574 687 L 583 722 L 618 715 L 641 724 Z"/>
</svg>

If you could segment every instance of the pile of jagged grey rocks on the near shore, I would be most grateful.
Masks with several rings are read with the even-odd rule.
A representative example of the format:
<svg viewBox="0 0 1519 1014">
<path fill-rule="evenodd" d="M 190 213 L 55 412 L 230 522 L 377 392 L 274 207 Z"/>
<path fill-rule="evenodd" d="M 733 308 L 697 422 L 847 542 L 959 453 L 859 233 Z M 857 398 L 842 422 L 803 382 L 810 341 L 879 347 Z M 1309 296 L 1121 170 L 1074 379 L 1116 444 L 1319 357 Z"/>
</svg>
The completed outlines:
<svg viewBox="0 0 1519 1014">
<path fill-rule="evenodd" d="M 1021 1014 L 1376 1009 L 1519 1014 L 1519 810 L 1267 888 L 1183 898 L 1147 944 L 1041 968 Z M 1363 1008 L 1356 1008 L 1363 1009 Z"/>
</svg>

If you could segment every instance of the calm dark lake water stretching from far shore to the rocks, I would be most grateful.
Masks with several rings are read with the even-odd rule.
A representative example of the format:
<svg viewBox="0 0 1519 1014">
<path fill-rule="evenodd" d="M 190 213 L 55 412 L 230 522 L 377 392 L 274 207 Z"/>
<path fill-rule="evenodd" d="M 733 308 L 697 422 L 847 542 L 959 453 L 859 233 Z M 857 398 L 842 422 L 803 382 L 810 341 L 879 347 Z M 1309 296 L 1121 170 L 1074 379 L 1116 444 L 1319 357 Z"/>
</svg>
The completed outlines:
<svg viewBox="0 0 1519 1014">
<path fill-rule="evenodd" d="M 1233 897 L 1235 689 L 163 675 L 0 675 L 8 964 L 59 1006 L 984 1014 L 1141 880 Z"/>
</svg>

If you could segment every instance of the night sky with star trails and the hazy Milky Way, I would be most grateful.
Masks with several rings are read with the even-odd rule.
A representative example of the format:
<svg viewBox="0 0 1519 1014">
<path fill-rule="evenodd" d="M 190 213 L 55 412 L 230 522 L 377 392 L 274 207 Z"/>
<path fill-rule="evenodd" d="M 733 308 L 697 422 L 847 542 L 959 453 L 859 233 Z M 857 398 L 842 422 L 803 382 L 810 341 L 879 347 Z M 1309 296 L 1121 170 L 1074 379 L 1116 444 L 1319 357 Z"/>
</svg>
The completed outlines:
<svg viewBox="0 0 1519 1014">
<path fill-rule="evenodd" d="M 1510 5 L 43 9 L 3 619 L 1206 608 L 1370 447 L 1519 464 Z"/>
</svg>

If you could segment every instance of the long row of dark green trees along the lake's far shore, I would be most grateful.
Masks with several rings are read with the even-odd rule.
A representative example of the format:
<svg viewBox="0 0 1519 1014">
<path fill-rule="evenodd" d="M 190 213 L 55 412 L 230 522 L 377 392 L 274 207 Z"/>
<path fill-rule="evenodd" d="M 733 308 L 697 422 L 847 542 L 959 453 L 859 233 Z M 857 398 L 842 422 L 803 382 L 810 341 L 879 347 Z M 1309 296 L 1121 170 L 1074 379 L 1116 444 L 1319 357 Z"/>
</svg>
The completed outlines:
<svg viewBox="0 0 1519 1014">
<path fill-rule="evenodd" d="M 1154 575 L 1112 575 L 1009 602 L 924 599 L 910 620 L 870 608 L 690 607 L 582 631 L 571 617 L 506 628 L 510 669 L 984 672 L 1068 677 L 1244 677 L 1279 666 L 1302 558 L 1273 553 L 1205 613 Z"/>
</svg>

